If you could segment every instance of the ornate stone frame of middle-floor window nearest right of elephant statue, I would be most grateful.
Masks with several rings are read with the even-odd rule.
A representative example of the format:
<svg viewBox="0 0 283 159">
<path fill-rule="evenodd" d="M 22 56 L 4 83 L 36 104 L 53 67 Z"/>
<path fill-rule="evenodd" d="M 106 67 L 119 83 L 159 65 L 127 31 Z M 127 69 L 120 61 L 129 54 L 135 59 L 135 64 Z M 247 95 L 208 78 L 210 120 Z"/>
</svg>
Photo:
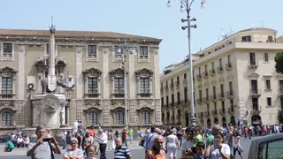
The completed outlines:
<svg viewBox="0 0 283 159">
<path fill-rule="evenodd" d="M 85 99 L 91 99 L 91 98 L 100 98 L 100 77 L 101 77 L 101 71 L 96 68 L 90 68 L 83 72 L 85 77 L 85 92 L 84 92 L 84 98 Z M 97 78 L 97 94 L 88 94 L 88 79 L 89 78 Z"/>
</svg>

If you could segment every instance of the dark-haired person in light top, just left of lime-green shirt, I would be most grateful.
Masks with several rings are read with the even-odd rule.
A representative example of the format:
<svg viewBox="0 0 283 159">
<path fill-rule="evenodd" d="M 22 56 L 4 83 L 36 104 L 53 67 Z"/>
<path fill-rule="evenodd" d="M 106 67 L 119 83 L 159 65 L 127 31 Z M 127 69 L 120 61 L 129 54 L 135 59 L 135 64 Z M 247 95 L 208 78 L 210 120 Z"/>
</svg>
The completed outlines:
<svg viewBox="0 0 283 159">
<path fill-rule="evenodd" d="M 191 158 L 192 155 L 194 155 L 191 148 L 193 148 L 194 145 L 194 131 L 190 130 L 189 127 L 185 130 L 185 141 L 182 144 L 182 158 Z"/>
</svg>

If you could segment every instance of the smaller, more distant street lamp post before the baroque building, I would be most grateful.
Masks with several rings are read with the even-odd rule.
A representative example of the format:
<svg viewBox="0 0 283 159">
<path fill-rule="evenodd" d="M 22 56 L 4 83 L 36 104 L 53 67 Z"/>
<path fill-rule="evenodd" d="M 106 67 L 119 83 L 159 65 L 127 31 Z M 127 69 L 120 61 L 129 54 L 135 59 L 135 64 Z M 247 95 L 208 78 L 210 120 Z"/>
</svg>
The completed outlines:
<svg viewBox="0 0 283 159">
<path fill-rule="evenodd" d="M 127 128 L 128 123 L 127 123 L 127 87 L 126 87 L 126 56 L 127 52 L 130 52 L 131 54 L 135 54 L 135 49 L 130 48 L 127 46 L 126 42 L 124 44 L 119 45 L 118 53 L 123 55 L 123 66 L 122 68 L 124 69 L 124 103 L 125 103 L 125 127 Z"/>
</svg>

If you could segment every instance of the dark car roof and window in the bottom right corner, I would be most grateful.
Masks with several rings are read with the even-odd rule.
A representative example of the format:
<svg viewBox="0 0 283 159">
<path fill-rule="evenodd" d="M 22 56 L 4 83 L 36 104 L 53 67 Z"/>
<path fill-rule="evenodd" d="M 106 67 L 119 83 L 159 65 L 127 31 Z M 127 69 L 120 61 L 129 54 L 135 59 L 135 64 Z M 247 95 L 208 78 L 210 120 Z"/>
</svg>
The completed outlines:
<svg viewBox="0 0 283 159">
<path fill-rule="evenodd" d="M 249 159 L 283 158 L 283 133 L 257 138 L 251 142 Z"/>
</svg>

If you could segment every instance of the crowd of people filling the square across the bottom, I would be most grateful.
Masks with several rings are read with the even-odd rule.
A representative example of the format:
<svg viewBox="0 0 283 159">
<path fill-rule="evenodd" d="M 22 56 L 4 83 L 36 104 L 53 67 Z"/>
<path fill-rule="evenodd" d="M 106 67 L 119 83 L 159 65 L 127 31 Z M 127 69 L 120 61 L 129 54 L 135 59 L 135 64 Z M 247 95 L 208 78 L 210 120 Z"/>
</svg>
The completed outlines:
<svg viewBox="0 0 283 159">
<path fill-rule="evenodd" d="M 145 159 L 170 159 L 181 158 L 235 158 L 238 154 L 243 158 L 241 148 L 241 135 L 244 140 L 251 140 L 254 135 L 268 135 L 271 133 L 281 133 L 282 125 L 257 125 L 221 127 L 214 125 L 211 128 L 168 126 L 151 127 L 142 131 L 136 130 L 137 140 L 144 148 Z M 45 158 L 54 158 L 54 153 L 61 154 L 65 149 L 64 158 L 106 158 L 106 149 L 114 150 L 114 158 L 131 158 L 130 149 L 127 142 L 133 143 L 134 130 L 125 127 L 122 131 L 103 129 L 91 125 L 89 128 L 83 127 L 81 122 L 75 121 L 73 129 L 61 133 L 60 143 L 62 148 L 50 131 L 42 125 L 36 128 L 37 139 L 30 142 L 27 135 L 18 129 L 11 133 L 7 141 L 5 151 L 12 151 L 13 148 L 27 148 L 27 156 L 40 158 L 44 154 Z M 204 143 L 204 140 L 206 142 Z M 181 150 L 181 156 L 177 156 L 177 150 Z M 45 155 L 47 154 L 47 156 Z"/>
</svg>

